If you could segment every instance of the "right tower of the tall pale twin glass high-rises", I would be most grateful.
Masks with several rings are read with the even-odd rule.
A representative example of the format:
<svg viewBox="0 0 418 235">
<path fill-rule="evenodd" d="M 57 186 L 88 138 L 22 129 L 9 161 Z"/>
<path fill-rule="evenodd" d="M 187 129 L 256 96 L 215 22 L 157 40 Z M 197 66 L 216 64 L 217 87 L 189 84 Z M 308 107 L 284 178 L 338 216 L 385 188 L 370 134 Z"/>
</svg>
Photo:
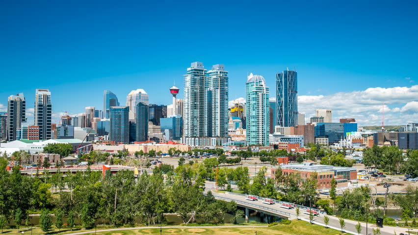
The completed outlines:
<svg viewBox="0 0 418 235">
<path fill-rule="evenodd" d="M 205 136 L 228 136 L 228 71 L 213 65 L 206 73 Z"/>
</svg>

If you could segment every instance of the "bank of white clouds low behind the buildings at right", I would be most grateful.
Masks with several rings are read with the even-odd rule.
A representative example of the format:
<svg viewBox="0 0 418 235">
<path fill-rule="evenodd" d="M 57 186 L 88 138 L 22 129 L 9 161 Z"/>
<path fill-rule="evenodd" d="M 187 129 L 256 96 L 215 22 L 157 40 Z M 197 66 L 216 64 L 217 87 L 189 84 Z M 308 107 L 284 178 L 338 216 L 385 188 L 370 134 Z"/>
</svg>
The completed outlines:
<svg viewBox="0 0 418 235">
<path fill-rule="evenodd" d="M 383 102 L 385 125 L 402 125 L 418 121 L 418 85 L 411 87 L 368 88 L 364 91 L 330 95 L 300 95 L 298 110 L 309 121 L 317 108 L 333 110 L 333 121 L 356 118 L 359 125 L 381 125 Z M 390 108 L 388 105 L 391 105 Z"/>
</svg>

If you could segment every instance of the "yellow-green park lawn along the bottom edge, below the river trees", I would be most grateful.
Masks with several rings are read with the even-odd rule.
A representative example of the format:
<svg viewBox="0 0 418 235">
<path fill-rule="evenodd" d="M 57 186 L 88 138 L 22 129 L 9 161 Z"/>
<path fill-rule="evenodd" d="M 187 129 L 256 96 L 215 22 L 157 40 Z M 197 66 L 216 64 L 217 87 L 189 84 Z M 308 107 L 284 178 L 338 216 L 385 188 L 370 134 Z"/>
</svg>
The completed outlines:
<svg viewBox="0 0 418 235">
<path fill-rule="evenodd" d="M 98 228 L 97 230 L 110 229 L 110 228 Z M 26 235 L 31 234 L 31 231 L 27 231 L 26 228 L 21 228 L 20 232 L 25 231 Z M 58 232 L 57 229 L 49 231 L 50 235 L 64 235 L 70 233 L 91 231 L 90 235 L 95 234 L 95 230 L 83 230 L 83 229 L 61 229 Z M 319 225 L 310 225 L 308 222 L 301 220 L 292 220 L 289 225 L 278 224 L 272 227 L 251 227 L 251 225 L 245 225 L 240 228 L 200 228 L 196 226 L 194 228 L 164 228 L 162 227 L 162 234 L 169 235 L 254 235 L 257 231 L 257 235 L 338 235 L 340 231 L 333 229 L 326 229 Z M 4 230 L 6 234 L 18 234 L 16 229 Z M 43 233 L 39 228 L 33 228 L 33 235 L 42 235 Z M 116 230 L 109 232 L 97 232 L 97 235 L 159 235 L 159 229 L 131 229 L 131 230 Z"/>
</svg>

